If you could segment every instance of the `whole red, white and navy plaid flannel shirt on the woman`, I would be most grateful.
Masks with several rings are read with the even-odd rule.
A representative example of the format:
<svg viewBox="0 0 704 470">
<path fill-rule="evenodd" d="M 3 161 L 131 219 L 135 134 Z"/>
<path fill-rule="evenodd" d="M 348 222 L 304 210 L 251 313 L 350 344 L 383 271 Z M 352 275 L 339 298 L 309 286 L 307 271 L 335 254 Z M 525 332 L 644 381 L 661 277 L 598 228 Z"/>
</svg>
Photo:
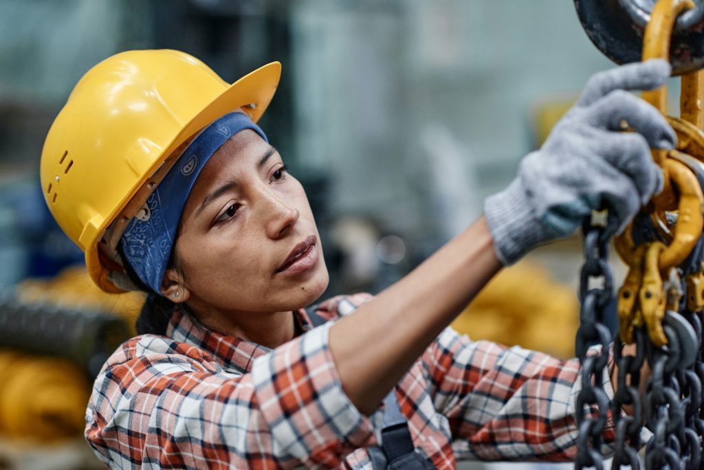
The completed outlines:
<svg viewBox="0 0 704 470">
<path fill-rule="evenodd" d="M 318 313 L 335 320 L 368 298 L 333 298 Z M 303 310 L 294 315 L 304 333 L 275 350 L 180 311 L 166 336 L 124 343 L 87 409 L 85 436 L 98 457 L 119 468 L 371 469 L 365 447 L 377 445 L 383 410 L 366 417 L 346 397 L 327 346 L 332 322 L 312 329 Z M 458 459 L 572 459 L 579 388 L 577 360 L 472 342 L 448 328 L 396 395 L 416 451 L 452 469 Z"/>
</svg>

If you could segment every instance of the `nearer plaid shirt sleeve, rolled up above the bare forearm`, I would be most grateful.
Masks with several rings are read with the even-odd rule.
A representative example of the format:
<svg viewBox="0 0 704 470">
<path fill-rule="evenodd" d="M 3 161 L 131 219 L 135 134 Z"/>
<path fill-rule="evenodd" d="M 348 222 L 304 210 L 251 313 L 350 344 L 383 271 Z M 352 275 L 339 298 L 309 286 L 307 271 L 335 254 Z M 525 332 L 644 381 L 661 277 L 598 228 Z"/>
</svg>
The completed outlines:
<svg viewBox="0 0 704 470">
<path fill-rule="evenodd" d="M 248 374 L 143 336 L 96 379 L 87 440 L 119 468 L 337 466 L 373 434 L 341 389 L 329 326 L 258 357 Z"/>
</svg>

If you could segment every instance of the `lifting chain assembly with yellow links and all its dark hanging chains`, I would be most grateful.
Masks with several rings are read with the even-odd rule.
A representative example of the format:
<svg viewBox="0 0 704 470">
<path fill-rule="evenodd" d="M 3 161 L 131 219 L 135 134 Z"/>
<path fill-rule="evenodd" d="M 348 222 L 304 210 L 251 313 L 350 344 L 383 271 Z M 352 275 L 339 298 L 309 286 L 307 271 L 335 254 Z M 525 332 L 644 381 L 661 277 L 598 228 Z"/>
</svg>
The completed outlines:
<svg viewBox="0 0 704 470">
<path fill-rule="evenodd" d="M 643 61 L 668 58 L 674 20 L 693 7 L 689 0 L 657 1 L 643 33 Z M 645 423 L 653 433 L 646 445 L 646 469 L 704 470 L 704 72 L 684 75 L 682 90 L 683 119 L 666 117 L 677 132 L 677 150 L 653 151 L 655 163 L 665 173 L 666 190 L 653 198 L 644 219 L 662 222 L 665 211 L 676 207 L 679 224 L 675 222 L 673 230 L 660 223 L 655 230 L 647 227 L 650 236 L 639 243 L 631 225 L 615 240 L 629 272 L 619 291 L 620 328 L 613 345 L 618 372 L 610 403 L 603 388 L 611 338 L 603 323 L 605 307 L 612 298 L 607 240 L 595 224 L 584 229 L 585 262 L 579 290 L 582 324 L 576 341 L 582 364 L 576 469 L 603 467 L 602 433 L 610 407 L 615 424 L 613 468 L 640 469 L 638 451 Z M 644 91 L 643 99 L 666 115 L 665 87 Z M 593 278 L 603 278 L 602 286 L 591 288 Z M 632 355 L 626 353 L 624 343 L 634 343 Z M 590 351 L 588 357 L 590 345 L 601 345 L 601 351 L 596 355 Z M 650 374 L 643 395 L 641 371 L 646 370 L 646 362 Z M 585 407 L 589 407 L 589 417 Z"/>
</svg>

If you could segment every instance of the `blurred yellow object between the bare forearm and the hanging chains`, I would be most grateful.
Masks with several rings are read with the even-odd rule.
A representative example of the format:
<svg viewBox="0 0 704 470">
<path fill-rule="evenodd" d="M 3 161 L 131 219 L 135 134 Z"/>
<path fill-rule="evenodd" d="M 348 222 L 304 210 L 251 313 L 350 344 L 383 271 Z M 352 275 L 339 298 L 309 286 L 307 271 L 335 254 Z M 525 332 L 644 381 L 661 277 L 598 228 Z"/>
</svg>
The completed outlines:
<svg viewBox="0 0 704 470">
<path fill-rule="evenodd" d="M 472 340 L 574 355 L 579 302 L 572 290 L 527 261 L 503 269 L 452 324 Z"/>
</svg>

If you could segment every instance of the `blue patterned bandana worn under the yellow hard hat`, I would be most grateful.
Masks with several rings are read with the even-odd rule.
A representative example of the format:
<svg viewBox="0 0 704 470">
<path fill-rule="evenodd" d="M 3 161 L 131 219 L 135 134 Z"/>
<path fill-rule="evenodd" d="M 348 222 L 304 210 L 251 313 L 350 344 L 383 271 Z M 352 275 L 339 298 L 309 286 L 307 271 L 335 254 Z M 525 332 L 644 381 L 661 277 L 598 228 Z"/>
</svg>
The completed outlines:
<svg viewBox="0 0 704 470">
<path fill-rule="evenodd" d="M 213 121 L 184 150 L 156 190 L 146 200 L 146 214 L 132 219 L 122 234 L 122 253 L 139 279 L 161 295 L 161 281 L 171 256 L 183 206 L 201 170 L 227 139 L 252 129 L 268 141 L 262 129 L 243 113 Z"/>
</svg>

